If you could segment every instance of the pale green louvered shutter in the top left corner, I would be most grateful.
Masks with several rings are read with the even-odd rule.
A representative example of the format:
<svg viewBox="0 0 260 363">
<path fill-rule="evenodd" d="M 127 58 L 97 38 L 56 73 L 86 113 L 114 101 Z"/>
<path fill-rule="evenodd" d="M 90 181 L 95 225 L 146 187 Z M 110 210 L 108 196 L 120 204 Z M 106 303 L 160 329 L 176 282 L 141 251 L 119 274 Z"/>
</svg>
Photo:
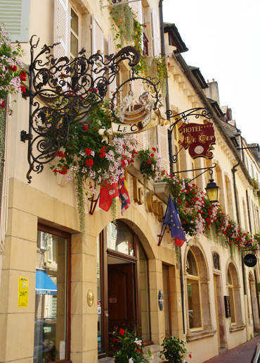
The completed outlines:
<svg viewBox="0 0 260 363">
<path fill-rule="evenodd" d="M 30 0 L 0 0 L 0 23 L 11 32 L 11 42 L 29 42 Z"/>
</svg>

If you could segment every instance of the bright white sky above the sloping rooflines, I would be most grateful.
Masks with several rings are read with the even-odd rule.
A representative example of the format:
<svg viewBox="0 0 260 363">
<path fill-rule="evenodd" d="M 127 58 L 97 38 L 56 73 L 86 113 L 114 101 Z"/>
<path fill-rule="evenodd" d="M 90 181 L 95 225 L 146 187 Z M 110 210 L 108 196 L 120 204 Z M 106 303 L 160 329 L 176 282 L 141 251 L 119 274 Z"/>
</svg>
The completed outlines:
<svg viewBox="0 0 260 363">
<path fill-rule="evenodd" d="M 207 81 L 219 85 L 221 106 L 247 143 L 260 144 L 260 1 L 164 0 L 164 22 L 175 23 L 182 53 Z"/>
</svg>

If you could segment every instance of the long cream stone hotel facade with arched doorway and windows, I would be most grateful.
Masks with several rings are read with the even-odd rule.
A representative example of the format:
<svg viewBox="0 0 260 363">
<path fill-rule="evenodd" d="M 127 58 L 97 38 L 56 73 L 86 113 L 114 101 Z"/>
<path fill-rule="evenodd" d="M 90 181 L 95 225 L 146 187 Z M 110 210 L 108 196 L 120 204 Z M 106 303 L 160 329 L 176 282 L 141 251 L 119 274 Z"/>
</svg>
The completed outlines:
<svg viewBox="0 0 260 363">
<path fill-rule="evenodd" d="M 101 12 L 99 3 L 20 2 L 24 63 L 30 64 L 28 42 L 29 35 L 34 34 L 42 45 L 60 41 L 57 56 L 73 59 L 82 47 L 88 56 L 97 51 L 114 53 L 117 44 L 111 35 L 112 20 L 108 8 Z M 140 23 L 146 25 L 148 65 L 161 52 L 159 3 L 142 0 L 131 4 Z M 11 6 L 6 11 L 6 18 L 0 16 L 0 22 L 8 19 L 8 13 L 13 19 Z M 176 114 L 206 107 L 213 113 L 216 135 L 214 158 L 193 160 L 178 144 L 181 134 L 177 125 L 170 145 L 174 154 L 178 152 L 174 171 L 182 177 L 197 176 L 195 183 L 204 190 L 208 173 L 198 176 L 191 169 L 215 163 L 214 180 L 221 188 L 223 211 L 243 230 L 257 233 L 259 201 L 252 178 L 260 181 L 259 152 L 256 147 L 237 149 L 247 144 L 231 122 L 230 109 L 219 106 L 217 87 L 206 93 L 208 99 L 204 90 L 210 87 L 200 69 L 188 66 L 181 55 L 188 49 L 176 25 L 167 23 L 164 33 L 169 56 L 169 109 Z M 19 37 L 18 31 L 14 39 Z M 125 65 L 117 86 L 128 78 Z M 111 85 L 109 96 L 115 86 Z M 141 92 L 140 85 L 134 87 L 134 92 Z M 259 331 L 259 262 L 255 269 L 245 267 L 237 252 L 231 259 L 229 250 L 212 235 L 199 235 L 187 236 L 180 264 L 167 233 L 162 245 L 157 245 L 162 228 L 157 206 L 165 211 L 167 199 L 154 194 L 152 183 L 145 188 L 136 164 L 127 173 L 131 207 L 122 217 L 117 200 L 117 226 L 110 211 L 97 207 L 93 215 L 87 212 L 83 242 L 74 183 L 53 176 L 48 164 L 42 173 L 32 173 L 32 183 L 27 183 L 27 144 L 20 141 L 20 132 L 28 130 L 29 101 L 20 96 L 10 96 L 11 100 L 16 103 L 13 115 L 6 116 L 1 188 L 1 230 L 8 228 L 3 233 L 0 254 L 0 362 L 109 362 L 109 333 L 115 326 L 126 324 L 141 327 L 145 351 L 151 350 L 155 362 L 162 337 L 172 334 L 186 338 L 191 361 L 202 363 Z M 167 128 L 157 125 L 136 137 L 140 148 L 155 147 L 164 156 L 164 168 L 169 172 Z M 156 208 L 148 206 L 148 198 L 150 206 Z M 89 211 L 89 200 L 86 204 Z M 24 307 L 18 306 L 20 277 L 29 278 L 28 304 Z M 162 310 L 158 304 L 160 291 L 164 295 Z M 230 317 L 225 312 L 227 296 Z"/>
</svg>

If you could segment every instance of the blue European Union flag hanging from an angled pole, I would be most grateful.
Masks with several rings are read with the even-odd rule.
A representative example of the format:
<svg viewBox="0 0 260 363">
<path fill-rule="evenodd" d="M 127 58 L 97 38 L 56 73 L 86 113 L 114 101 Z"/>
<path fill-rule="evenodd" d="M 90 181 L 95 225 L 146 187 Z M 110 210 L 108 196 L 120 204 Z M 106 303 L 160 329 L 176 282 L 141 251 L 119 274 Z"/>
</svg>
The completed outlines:
<svg viewBox="0 0 260 363">
<path fill-rule="evenodd" d="M 183 228 L 181 227 L 181 221 L 178 216 L 178 209 L 176 202 L 172 202 L 171 196 L 169 196 L 167 209 L 164 215 L 164 221 L 162 223 L 162 229 L 164 225 L 167 224 L 169 228 L 171 228 L 171 238 L 174 238 L 174 242 L 178 246 L 182 246 L 186 241 L 185 233 L 183 232 Z M 165 231 L 165 228 L 164 228 Z M 160 237 L 162 237 L 164 233 L 161 232 Z M 160 242 L 162 241 L 162 238 Z M 160 245 L 160 243 L 158 243 Z"/>
</svg>

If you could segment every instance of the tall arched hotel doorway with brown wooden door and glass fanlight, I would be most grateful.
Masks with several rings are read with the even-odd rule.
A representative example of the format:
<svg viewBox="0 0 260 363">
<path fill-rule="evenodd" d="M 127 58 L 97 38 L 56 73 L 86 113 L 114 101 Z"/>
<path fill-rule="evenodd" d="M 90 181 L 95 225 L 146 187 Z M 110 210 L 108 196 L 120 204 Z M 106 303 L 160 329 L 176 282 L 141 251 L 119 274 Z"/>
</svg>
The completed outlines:
<svg viewBox="0 0 260 363">
<path fill-rule="evenodd" d="M 109 350 L 109 336 L 119 328 L 138 328 L 150 341 L 148 259 L 136 233 L 120 220 L 98 237 L 98 353 Z"/>
</svg>

